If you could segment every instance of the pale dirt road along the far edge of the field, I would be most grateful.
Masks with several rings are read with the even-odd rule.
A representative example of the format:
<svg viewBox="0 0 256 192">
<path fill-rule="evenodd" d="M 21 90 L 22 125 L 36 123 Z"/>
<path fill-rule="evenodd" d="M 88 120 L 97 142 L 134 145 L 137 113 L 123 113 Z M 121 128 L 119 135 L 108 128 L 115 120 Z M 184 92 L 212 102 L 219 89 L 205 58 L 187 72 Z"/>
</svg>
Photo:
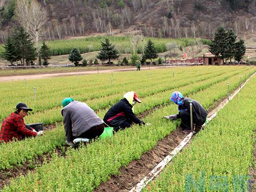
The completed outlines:
<svg viewBox="0 0 256 192">
<path fill-rule="evenodd" d="M 141 70 L 149 70 L 149 69 L 159 69 L 159 68 L 173 68 L 176 66 L 162 66 L 162 67 L 142 67 Z M 122 69 L 107 69 L 107 70 L 99 70 L 99 74 L 102 73 L 111 73 L 112 71 L 132 71 L 136 70 L 136 68 L 122 68 Z M 62 73 L 46 73 L 46 74 L 31 74 L 31 75 L 17 75 L 17 76 L 3 76 L 0 77 L 0 82 L 6 81 L 23 81 L 24 79 L 40 79 L 40 78 L 51 78 L 51 77 L 63 77 L 63 76 L 73 76 L 73 75 L 90 75 L 97 74 L 97 70 L 91 71 L 76 71 L 76 72 L 62 72 Z"/>
</svg>

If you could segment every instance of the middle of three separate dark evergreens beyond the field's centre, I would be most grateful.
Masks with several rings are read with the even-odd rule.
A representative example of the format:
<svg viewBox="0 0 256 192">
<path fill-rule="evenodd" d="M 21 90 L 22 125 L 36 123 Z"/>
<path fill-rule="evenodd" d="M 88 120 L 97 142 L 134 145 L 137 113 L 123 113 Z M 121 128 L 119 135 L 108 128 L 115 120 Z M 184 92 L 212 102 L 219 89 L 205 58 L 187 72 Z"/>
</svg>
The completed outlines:
<svg viewBox="0 0 256 192">
<path fill-rule="evenodd" d="M 110 65 L 111 59 L 117 59 L 119 57 L 118 51 L 115 49 L 114 45 L 109 42 L 109 39 L 105 39 L 105 42 L 101 42 L 101 50 L 97 55 L 97 58 L 101 61 L 108 60 Z"/>
</svg>

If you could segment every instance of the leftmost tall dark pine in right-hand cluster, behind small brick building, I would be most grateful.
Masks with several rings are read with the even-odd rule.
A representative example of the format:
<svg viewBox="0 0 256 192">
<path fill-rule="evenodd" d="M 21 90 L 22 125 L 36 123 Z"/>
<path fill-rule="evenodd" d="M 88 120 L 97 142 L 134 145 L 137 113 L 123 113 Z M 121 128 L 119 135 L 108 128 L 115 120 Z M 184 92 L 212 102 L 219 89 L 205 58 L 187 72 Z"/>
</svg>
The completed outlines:
<svg viewBox="0 0 256 192">
<path fill-rule="evenodd" d="M 220 57 L 223 62 L 227 58 L 228 33 L 223 27 L 219 27 L 214 33 L 213 40 L 210 44 L 209 51 L 216 57 Z"/>
</svg>

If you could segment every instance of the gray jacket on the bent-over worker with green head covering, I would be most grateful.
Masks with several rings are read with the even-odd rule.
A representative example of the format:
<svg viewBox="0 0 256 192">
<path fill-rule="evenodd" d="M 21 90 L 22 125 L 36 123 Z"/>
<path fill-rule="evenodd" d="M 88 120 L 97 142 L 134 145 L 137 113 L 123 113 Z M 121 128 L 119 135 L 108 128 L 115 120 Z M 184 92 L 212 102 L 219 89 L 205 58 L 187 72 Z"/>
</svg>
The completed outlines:
<svg viewBox="0 0 256 192">
<path fill-rule="evenodd" d="M 61 110 L 67 141 L 73 141 L 93 126 L 101 125 L 103 120 L 84 102 L 71 101 Z"/>
</svg>

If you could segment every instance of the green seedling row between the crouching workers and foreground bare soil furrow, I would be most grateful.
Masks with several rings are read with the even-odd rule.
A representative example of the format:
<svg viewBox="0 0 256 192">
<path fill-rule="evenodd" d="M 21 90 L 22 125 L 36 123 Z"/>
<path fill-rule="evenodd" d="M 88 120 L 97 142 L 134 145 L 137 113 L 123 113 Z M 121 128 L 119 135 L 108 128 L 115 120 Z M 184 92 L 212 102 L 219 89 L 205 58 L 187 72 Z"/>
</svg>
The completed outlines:
<svg viewBox="0 0 256 192">
<path fill-rule="evenodd" d="M 240 83 L 234 77 L 228 80 L 233 79 L 234 82 L 230 85 L 232 90 Z M 182 91 L 185 95 L 189 94 L 186 90 Z M 214 101 L 225 97 L 226 82 L 213 84 L 205 91 L 209 94 L 202 91 L 189 96 L 197 99 L 203 93 L 204 100 L 199 102 L 203 106 L 209 103 L 214 105 Z M 110 175 L 118 174 L 121 166 L 139 159 L 159 140 L 175 130 L 175 123 L 162 119 L 163 115 L 174 113 L 177 113 L 175 105 L 158 109 L 144 119 L 145 122 L 152 123 L 151 126 L 134 125 L 106 140 L 93 142 L 78 150 L 71 149 L 67 152 L 67 157 L 53 157 L 50 163 L 37 167 L 35 172 L 12 179 L 10 186 L 6 186 L 3 191 L 93 191 L 101 182 L 107 181 Z"/>
</svg>

